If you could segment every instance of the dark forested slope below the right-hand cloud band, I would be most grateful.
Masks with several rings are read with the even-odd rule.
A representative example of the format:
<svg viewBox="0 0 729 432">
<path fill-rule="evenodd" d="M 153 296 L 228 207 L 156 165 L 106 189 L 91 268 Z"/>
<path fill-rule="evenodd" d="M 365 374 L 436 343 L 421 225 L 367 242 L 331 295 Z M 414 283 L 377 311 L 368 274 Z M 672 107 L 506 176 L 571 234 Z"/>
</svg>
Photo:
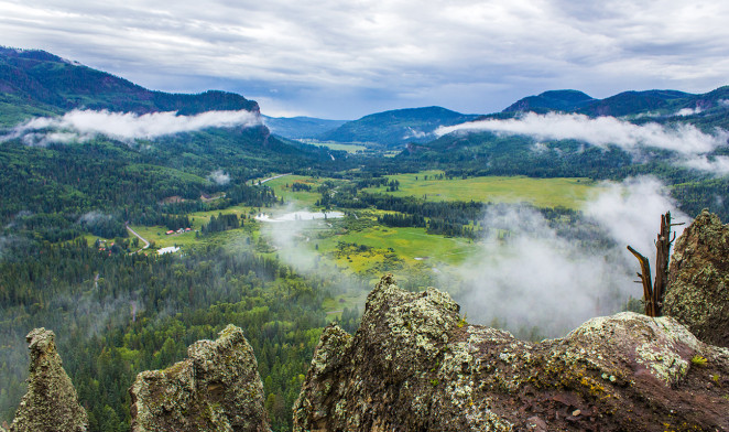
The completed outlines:
<svg viewBox="0 0 729 432">
<path fill-rule="evenodd" d="M 718 148 L 711 155 L 728 151 L 729 148 Z M 675 153 L 660 149 L 635 156 L 616 145 L 599 148 L 576 140 L 537 143 L 529 137 L 468 133 L 411 145 L 384 164 L 399 166 L 403 172 L 439 169 L 448 177 L 527 175 L 620 181 L 654 175 L 672 186 L 672 195 L 687 214 L 695 216 L 709 208 L 722 220 L 729 220 L 729 199 L 726 199 L 729 179 L 674 163 L 675 158 Z M 383 170 L 387 166 L 379 166 L 376 172 Z"/>
</svg>

